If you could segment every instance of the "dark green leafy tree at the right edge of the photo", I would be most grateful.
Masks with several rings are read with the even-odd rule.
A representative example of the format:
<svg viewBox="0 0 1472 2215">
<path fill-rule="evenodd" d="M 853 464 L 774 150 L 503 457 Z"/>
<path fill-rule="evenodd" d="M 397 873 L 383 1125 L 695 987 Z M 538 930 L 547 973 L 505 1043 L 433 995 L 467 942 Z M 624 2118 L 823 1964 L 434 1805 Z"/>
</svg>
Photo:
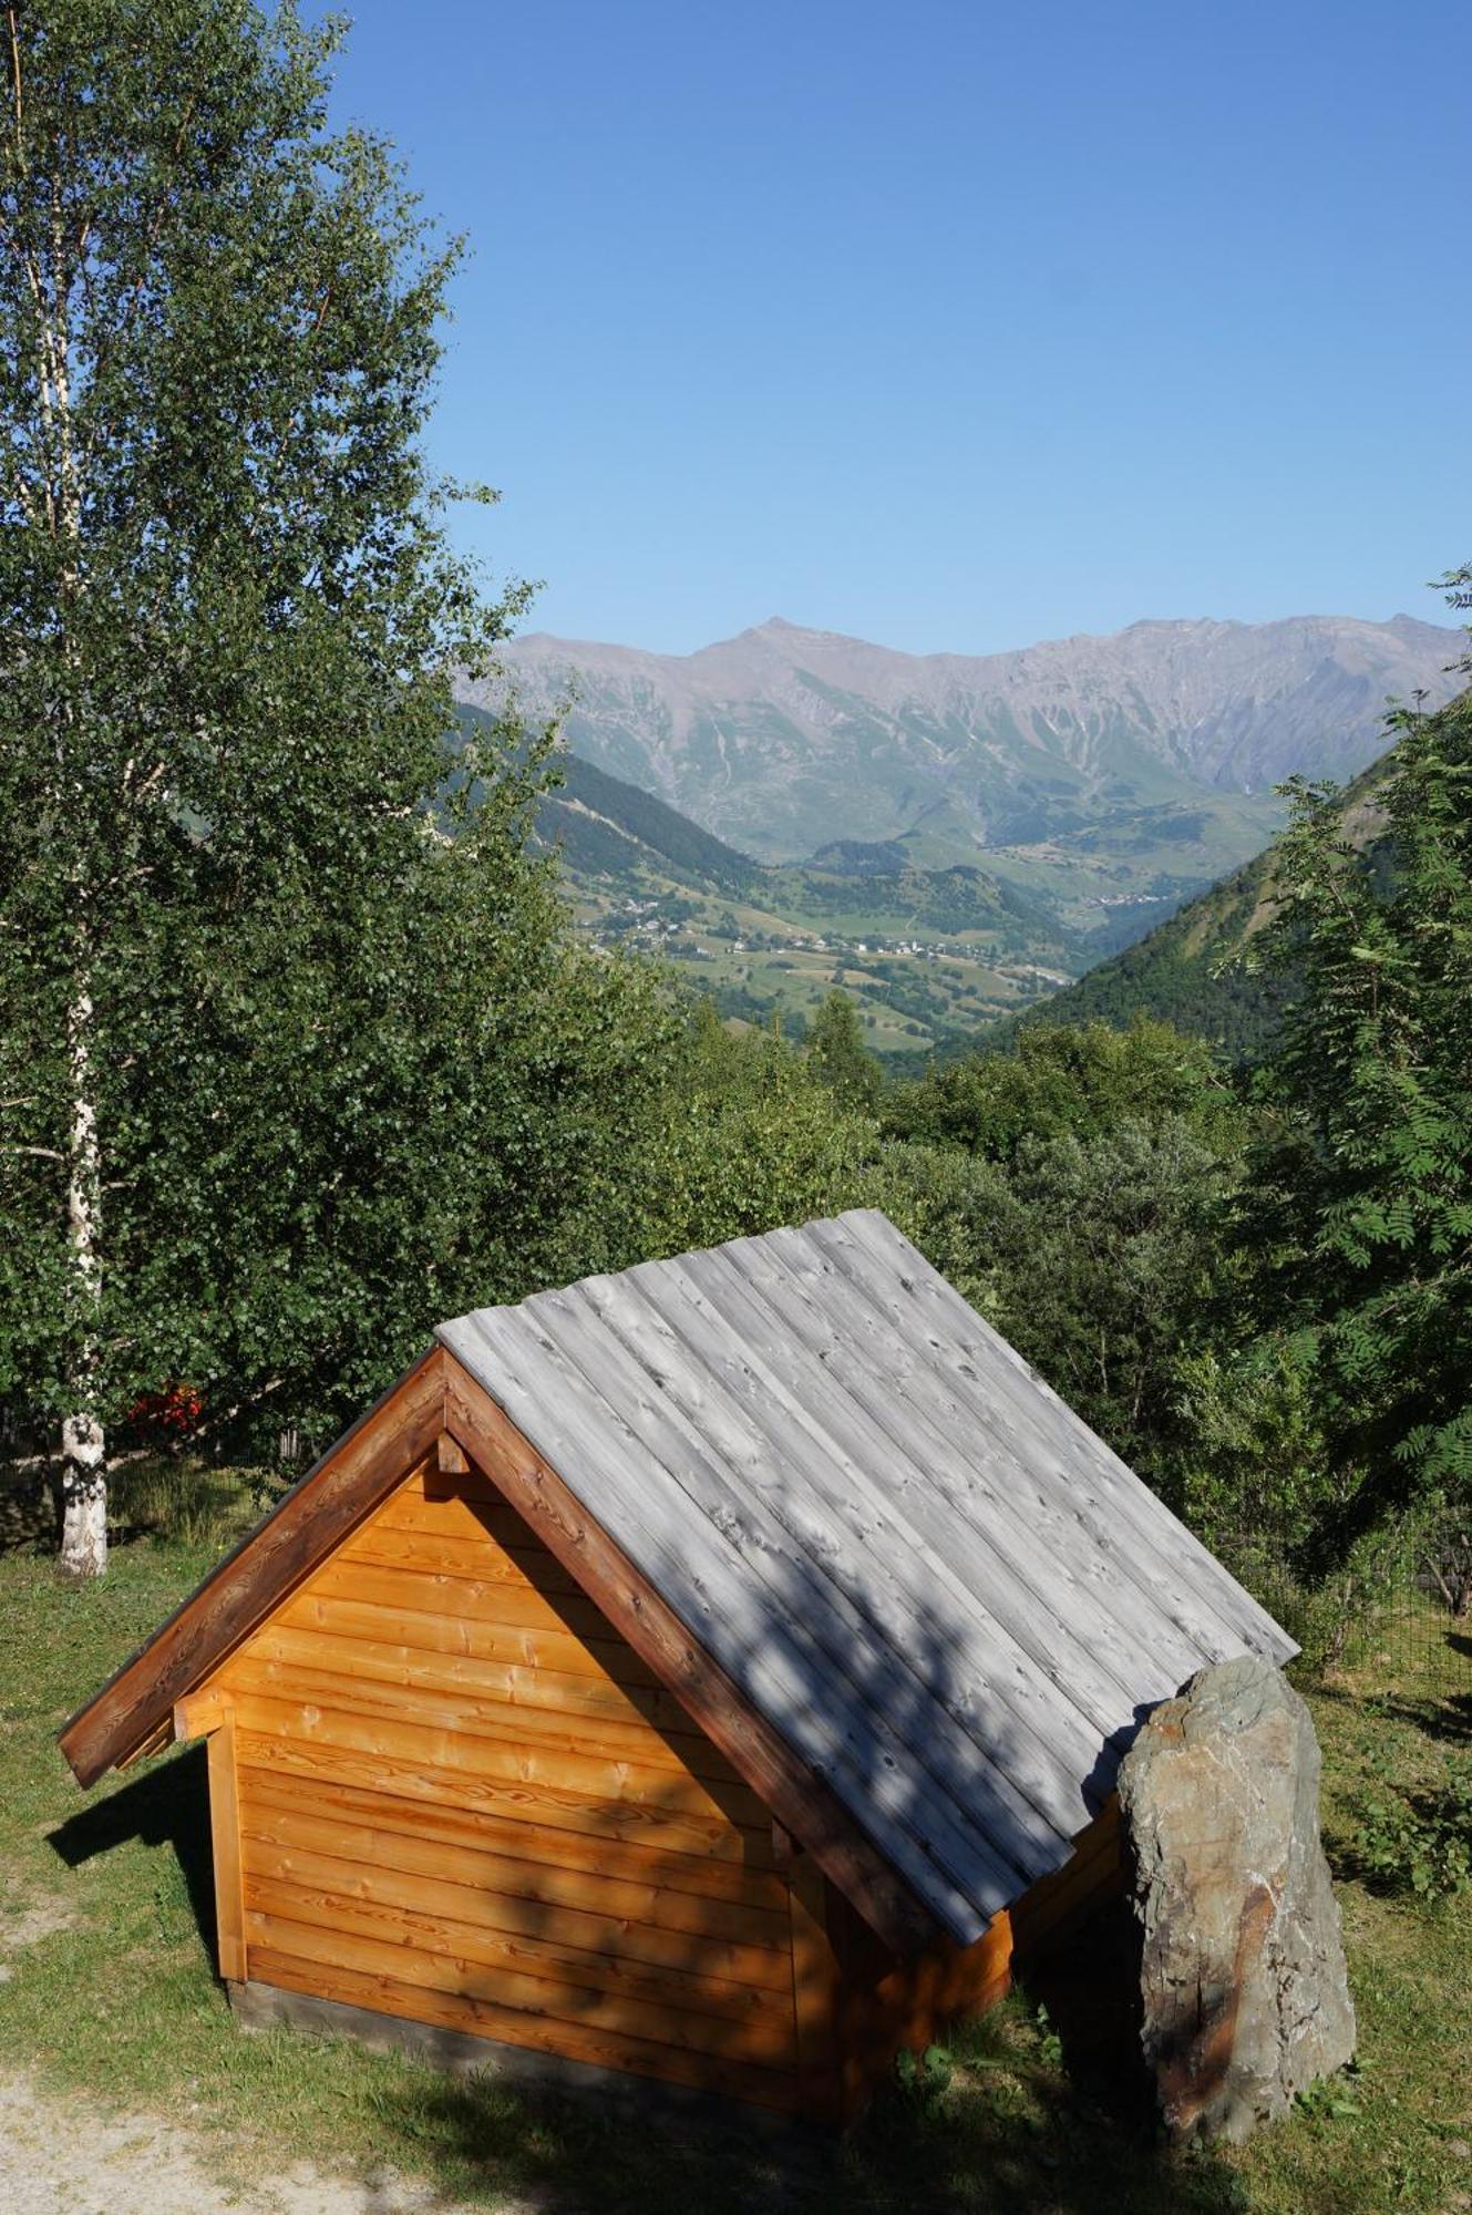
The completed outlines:
<svg viewBox="0 0 1472 2215">
<path fill-rule="evenodd" d="M 1301 1325 L 1335 1446 L 1368 1471 L 1361 1513 L 1472 1495 L 1472 696 L 1392 724 L 1370 851 L 1330 786 L 1290 786 L 1272 948 L 1304 990 L 1255 1216 L 1275 1320 Z"/>
</svg>

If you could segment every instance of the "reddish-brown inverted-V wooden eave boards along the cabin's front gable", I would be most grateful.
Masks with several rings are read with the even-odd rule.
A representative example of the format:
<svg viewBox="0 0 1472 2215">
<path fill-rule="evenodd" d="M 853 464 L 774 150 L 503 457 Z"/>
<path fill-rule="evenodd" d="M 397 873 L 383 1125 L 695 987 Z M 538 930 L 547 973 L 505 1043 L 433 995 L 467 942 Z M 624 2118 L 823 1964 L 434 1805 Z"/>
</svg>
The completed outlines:
<svg viewBox="0 0 1472 2215">
<path fill-rule="evenodd" d="M 441 1466 L 452 1471 L 459 1449 L 503 1493 L 885 1945 L 909 1956 L 942 1936 L 831 1785 L 749 1706 L 443 1347 L 423 1353 L 69 1719 L 60 1748 L 78 1783 L 166 1745 L 175 1708 L 437 1449 Z"/>
</svg>

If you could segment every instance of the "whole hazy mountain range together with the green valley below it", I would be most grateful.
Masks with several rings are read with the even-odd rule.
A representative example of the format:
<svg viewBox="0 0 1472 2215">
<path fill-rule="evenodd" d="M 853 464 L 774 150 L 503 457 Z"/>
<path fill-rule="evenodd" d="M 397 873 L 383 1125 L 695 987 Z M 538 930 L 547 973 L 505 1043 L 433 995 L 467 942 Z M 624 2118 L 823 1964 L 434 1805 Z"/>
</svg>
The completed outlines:
<svg viewBox="0 0 1472 2215">
<path fill-rule="evenodd" d="M 1275 782 L 1352 777 L 1386 702 L 1450 698 L 1461 651 L 1412 616 L 1135 622 L 993 656 L 774 618 L 689 656 L 532 633 L 468 700 L 510 684 L 561 718 L 543 831 L 594 937 L 698 964 L 740 1014 L 811 1010 L 838 977 L 876 1045 L 922 1052 L 1230 877 L 1284 822 Z"/>
</svg>

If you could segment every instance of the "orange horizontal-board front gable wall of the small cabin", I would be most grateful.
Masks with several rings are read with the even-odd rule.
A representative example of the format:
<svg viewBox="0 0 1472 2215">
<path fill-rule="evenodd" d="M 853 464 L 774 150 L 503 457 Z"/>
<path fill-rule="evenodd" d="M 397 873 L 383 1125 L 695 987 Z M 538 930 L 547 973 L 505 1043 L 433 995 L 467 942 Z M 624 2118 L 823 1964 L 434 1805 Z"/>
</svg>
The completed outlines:
<svg viewBox="0 0 1472 2215">
<path fill-rule="evenodd" d="M 195 1694 L 233 1734 L 231 1974 L 794 2109 L 767 1807 L 485 1477 L 446 1460 Z"/>
</svg>

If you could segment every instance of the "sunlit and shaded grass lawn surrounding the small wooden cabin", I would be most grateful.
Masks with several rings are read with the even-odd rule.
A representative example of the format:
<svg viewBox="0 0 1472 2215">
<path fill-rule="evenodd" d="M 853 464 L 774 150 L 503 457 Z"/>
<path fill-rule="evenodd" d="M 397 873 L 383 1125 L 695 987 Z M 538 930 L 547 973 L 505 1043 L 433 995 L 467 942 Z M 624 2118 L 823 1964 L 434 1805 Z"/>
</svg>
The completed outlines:
<svg viewBox="0 0 1472 2215">
<path fill-rule="evenodd" d="M 71 1708 L 217 1550 L 206 1528 L 195 1544 L 137 1537 L 95 1588 L 62 1584 L 35 1553 L 0 1555 L 0 2058 L 42 2089 L 186 2120 L 226 2180 L 304 2155 L 344 2173 L 390 2164 L 488 2208 L 539 2193 L 583 2215 L 1472 2208 L 1470 1896 L 1425 1905 L 1352 1876 L 1361 2073 L 1239 2153 L 1162 2155 L 1148 2115 L 1100 2104 L 1064 2016 L 1060 2040 L 1035 1993 L 958 2036 L 931 2100 L 896 2091 L 847 2146 L 811 2153 L 743 2124 L 630 2126 L 348 2042 L 239 2033 L 211 1962 L 202 1750 L 84 1796 L 55 1748 Z M 1434 1783 L 1472 1752 L 1472 1659 L 1441 1624 L 1394 1681 L 1368 1650 L 1310 1697 L 1326 1836 L 1346 1867 L 1370 1783 Z"/>
</svg>

